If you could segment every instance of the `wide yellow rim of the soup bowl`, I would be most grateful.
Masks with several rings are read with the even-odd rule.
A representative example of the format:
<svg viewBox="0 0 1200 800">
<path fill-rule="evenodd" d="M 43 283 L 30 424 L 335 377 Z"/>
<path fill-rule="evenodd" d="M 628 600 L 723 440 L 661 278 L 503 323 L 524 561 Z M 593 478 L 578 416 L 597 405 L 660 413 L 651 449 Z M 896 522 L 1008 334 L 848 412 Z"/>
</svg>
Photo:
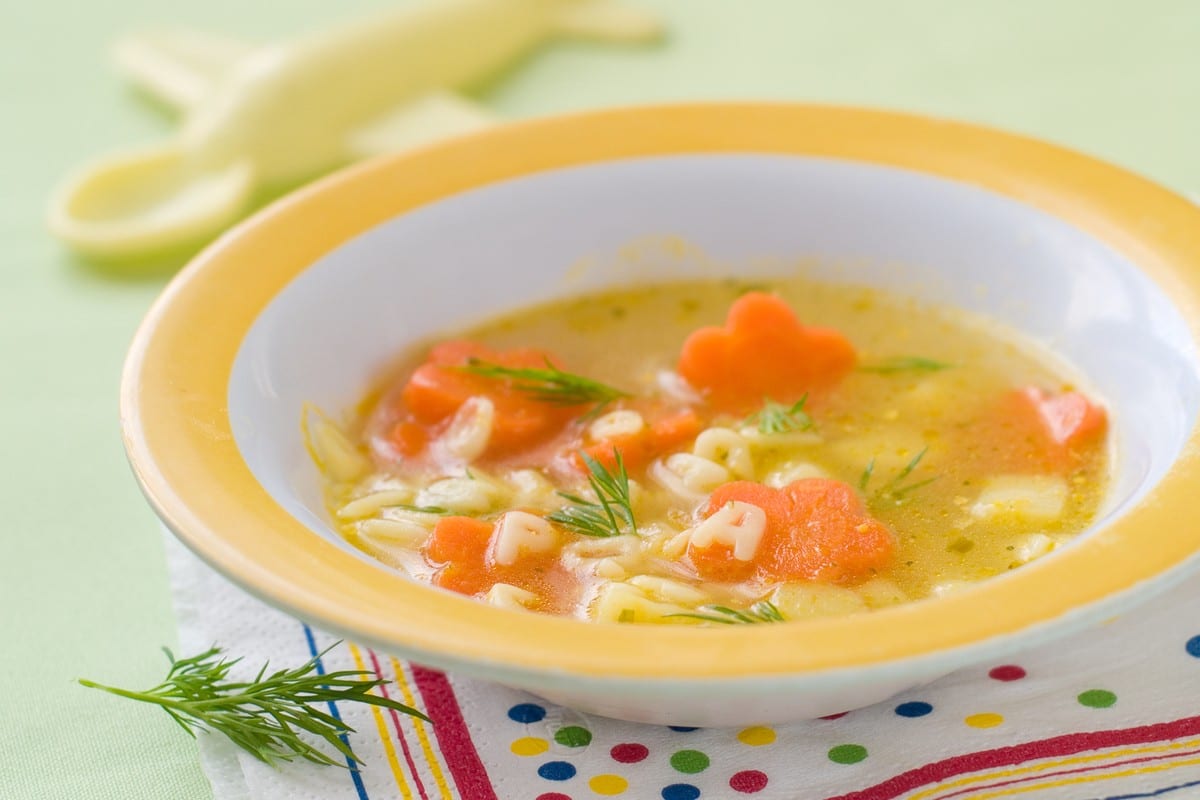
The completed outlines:
<svg viewBox="0 0 1200 800">
<path fill-rule="evenodd" d="M 853 108 L 713 103 L 581 113 L 343 170 L 198 255 L 149 312 L 122 374 L 126 450 L 148 499 L 188 547 L 272 604 L 476 674 L 712 680 L 881 666 L 1066 619 L 1200 552 L 1200 525 L 1178 524 L 1200 486 L 1195 428 L 1136 507 L 1003 579 L 871 614 L 719 630 L 517 614 L 434 590 L 314 535 L 253 477 L 228 416 L 234 357 L 259 312 L 323 254 L 396 215 L 496 181 L 620 158 L 728 152 L 896 167 L 1040 209 L 1139 265 L 1200 341 L 1200 210 L 1097 160 L 974 125 Z"/>
</svg>

